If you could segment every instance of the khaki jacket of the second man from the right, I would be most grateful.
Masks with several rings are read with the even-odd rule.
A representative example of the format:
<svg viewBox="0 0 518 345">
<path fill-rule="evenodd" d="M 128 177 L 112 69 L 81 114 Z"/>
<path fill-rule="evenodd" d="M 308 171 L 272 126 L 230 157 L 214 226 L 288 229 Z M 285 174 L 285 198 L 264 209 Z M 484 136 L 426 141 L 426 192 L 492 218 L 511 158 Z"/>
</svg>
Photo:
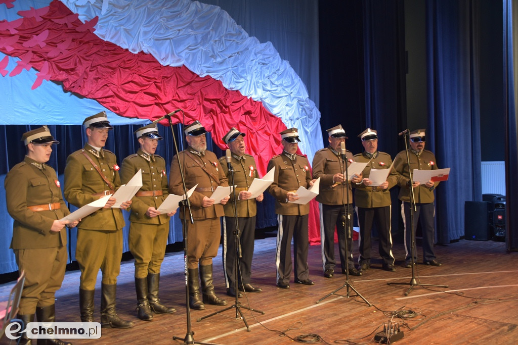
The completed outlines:
<svg viewBox="0 0 518 345">
<path fill-rule="evenodd" d="M 354 155 L 353 159 L 361 163 L 369 162 L 362 172 L 363 178 L 369 177 L 370 169 L 389 169 L 392 164 L 390 155 L 379 151 L 374 154 L 372 159 L 370 159 L 365 152 Z M 354 204 L 357 207 L 363 208 L 390 206 L 392 204 L 390 189 L 398 182 L 398 174 L 394 169 L 389 173 L 387 181 L 389 181 L 389 187 L 387 189 L 365 186 L 363 183 L 361 185 L 353 184 L 353 187 L 356 188 L 354 192 Z"/>
</svg>

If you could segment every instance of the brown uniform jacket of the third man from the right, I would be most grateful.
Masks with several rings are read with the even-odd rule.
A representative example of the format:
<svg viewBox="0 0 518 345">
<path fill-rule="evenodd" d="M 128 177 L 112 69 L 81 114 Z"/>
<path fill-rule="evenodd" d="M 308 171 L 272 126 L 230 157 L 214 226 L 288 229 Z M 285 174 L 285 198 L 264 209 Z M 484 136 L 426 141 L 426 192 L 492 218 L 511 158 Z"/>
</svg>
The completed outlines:
<svg viewBox="0 0 518 345">
<path fill-rule="evenodd" d="M 353 154 L 346 151 L 347 166 L 351 165 Z M 316 201 L 326 205 L 347 204 L 346 183 L 333 187 L 333 175 L 342 173 L 345 175 L 342 157 L 335 154 L 329 147 L 322 148 L 313 157 L 313 179 L 320 177 L 320 191 Z M 351 182 L 349 181 L 349 203 L 353 203 Z"/>
</svg>

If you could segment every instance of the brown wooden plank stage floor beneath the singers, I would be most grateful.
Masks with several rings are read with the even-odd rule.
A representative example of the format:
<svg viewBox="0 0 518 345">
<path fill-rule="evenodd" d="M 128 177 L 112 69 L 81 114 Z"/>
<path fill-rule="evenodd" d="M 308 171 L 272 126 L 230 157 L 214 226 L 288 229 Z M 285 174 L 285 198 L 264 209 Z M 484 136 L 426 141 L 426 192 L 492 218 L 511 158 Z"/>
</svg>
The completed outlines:
<svg viewBox="0 0 518 345">
<path fill-rule="evenodd" d="M 447 285 L 448 288 L 413 286 L 412 270 L 404 268 L 405 251 L 395 243 L 396 272 L 381 269 L 377 259 L 377 241 L 373 241 L 372 267 L 350 282 L 370 304 L 348 289 L 340 269 L 333 278 L 322 274 L 320 246 L 309 250 L 310 278 L 314 286 L 291 282 L 290 289 L 276 287 L 275 237 L 257 239 L 253 261 L 252 283 L 262 287 L 260 293 L 240 298 L 243 306 L 265 314 L 243 311 L 250 326 L 247 332 L 236 309 L 197 321 L 198 318 L 224 307 L 207 305 L 203 311 L 191 311 L 194 340 L 219 344 L 293 344 L 295 338 L 309 341 L 320 336 L 322 343 L 376 343 L 373 338 L 383 325 L 395 323 L 404 332 L 398 344 L 511 344 L 518 340 L 518 253 L 507 253 L 505 243 L 461 240 L 436 246 L 442 267 L 417 265 L 417 283 Z M 354 245 L 356 247 L 356 243 Z M 221 246 L 220 246 L 221 250 Z M 421 254 L 421 247 L 418 247 Z M 420 255 L 421 256 L 421 255 Z M 354 257 L 357 258 L 357 248 Z M 234 298 L 225 295 L 221 251 L 214 259 L 216 292 L 225 296 L 228 305 Z M 124 319 L 135 322 L 130 329 L 102 329 L 98 340 L 74 340 L 77 344 L 180 344 L 187 332 L 183 253 L 167 253 L 162 265 L 161 299 L 178 311 L 157 315 L 150 322 L 136 317 L 134 267 L 124 261 L 119 276 L 117 309 Z M 400 282 L 402 285 L 387 284 Z M 100 284 L 100 276 L 98 277 Z M 13 283 L 0 286 L 6 296 Z M 79 322 L 79 272 L 67 272 L 62 288 L 56 294 L 56 316 L 60 322 Z M 315 303 L 329 293 L 320 303 Z M 340 294 L 340 295 L 338 295 Z M 95 319 L 99 321 L 99 290 L 95 296 Z M 403 318 L 401 318 L 403 317 Z M 324 342 L 325 341 L 325 342 Z M 5 338 L 2 344 L 9 343 Z M 15 343 L 15 342 L 12 342 Z"/>
</svg>

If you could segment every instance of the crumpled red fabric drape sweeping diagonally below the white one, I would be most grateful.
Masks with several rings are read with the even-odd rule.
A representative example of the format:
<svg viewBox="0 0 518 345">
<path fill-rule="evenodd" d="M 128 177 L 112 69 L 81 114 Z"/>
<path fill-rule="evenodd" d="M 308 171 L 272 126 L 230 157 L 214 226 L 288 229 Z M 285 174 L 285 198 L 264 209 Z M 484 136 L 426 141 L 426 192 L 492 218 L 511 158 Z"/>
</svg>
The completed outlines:
<svg viewBox="0 0 518 345">
<path fill-rule="evenodd" d="M 269 159 L 282 151 L 279 133 L 286 126 L 261 102 L 228 90 L 211 77 L 199 77 L 184 66 L 163 66 L 150 54 L 134 54 L 100 39 L 93 34 L 96 19 L 82 23 L 60 1 L 27 12 L 30 14 L 22 21 L 11 22 L 11 30 L 0 31 L 0 51 L 21 59 L 10 77 L 34 67 L 39 72 L 33 88 L 43 80 L 59 82 L 65 91 L 95 99 L 129 118 L 153 120 L 182 109 L 185 124 L 198 119 L 221 148 L 225 148 L 221 138 L 236 127 L 247 133 L 248 151 L 261 175 L 266 173 Z M 181 112 L 174 116 L 173 123 L 182 121 Z M 310 241 L 318 242 L 316 205 L 313 201 Z"/>
</svg>

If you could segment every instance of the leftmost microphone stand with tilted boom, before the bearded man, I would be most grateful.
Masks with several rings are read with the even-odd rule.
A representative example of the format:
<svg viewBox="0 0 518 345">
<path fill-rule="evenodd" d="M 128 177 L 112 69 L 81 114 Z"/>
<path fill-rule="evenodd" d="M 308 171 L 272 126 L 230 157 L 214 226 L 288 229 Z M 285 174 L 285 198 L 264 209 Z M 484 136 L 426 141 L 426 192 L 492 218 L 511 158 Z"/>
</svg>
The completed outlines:
<svg viewBox="0 0 518 345">
<path fill-rule="evenodd" d="M 182 111 L 183 113 L 183 111 Z M 178 155 L 178 145 L 176 143 L 175 138 L 175 131 L 172 129 L 172 121 L 170 115 L 165 115 L 165 117 L 169 120 L 169 127 L 171 128 L 171 134 L 172 134 L 172 142 L 175 145 L 176 154 Z M 216 345 L 210 342 L 199 342 L 194 341 L 194 332 L 192 332 L 191 329 L 191 308 L 189 307 L 189 269 L 187 265 L 187 253 L 188 253 L 188 247 L 187 247 L 187 215 L 186 211 L 189 211 L 189 218 L 191 221 L 191 224 L 194 224 L 193 214 L 191 212 L 191 202 L 189 201 L 189 198 L 187 198 L 187 187 L 185 185 L 185 176 L 183 175 L 182 170 L 182 164 L 180 163 L 180 157 L 178 157 L 178 168 L 180 171 L 180 176 L 182 178 L 182 185 L 183 185 L 183 192 L 185 199 L 180 202 L 180 207 L 183 209 L 183 221 L 182 221 L 182 235 L 183 235 L 183 267 L 185 271 L 185 307 L 186 307 L 186 324 L 187 324 L 187 333 L 185 334 L 185 337 L 177 337 L 173 336 L 173 340 L 183 340 L 182 345 L 184 344 L 207 344 L 207 345 Z M 185 207 L 186 206 L 186 207 Z"/>
</svg>

